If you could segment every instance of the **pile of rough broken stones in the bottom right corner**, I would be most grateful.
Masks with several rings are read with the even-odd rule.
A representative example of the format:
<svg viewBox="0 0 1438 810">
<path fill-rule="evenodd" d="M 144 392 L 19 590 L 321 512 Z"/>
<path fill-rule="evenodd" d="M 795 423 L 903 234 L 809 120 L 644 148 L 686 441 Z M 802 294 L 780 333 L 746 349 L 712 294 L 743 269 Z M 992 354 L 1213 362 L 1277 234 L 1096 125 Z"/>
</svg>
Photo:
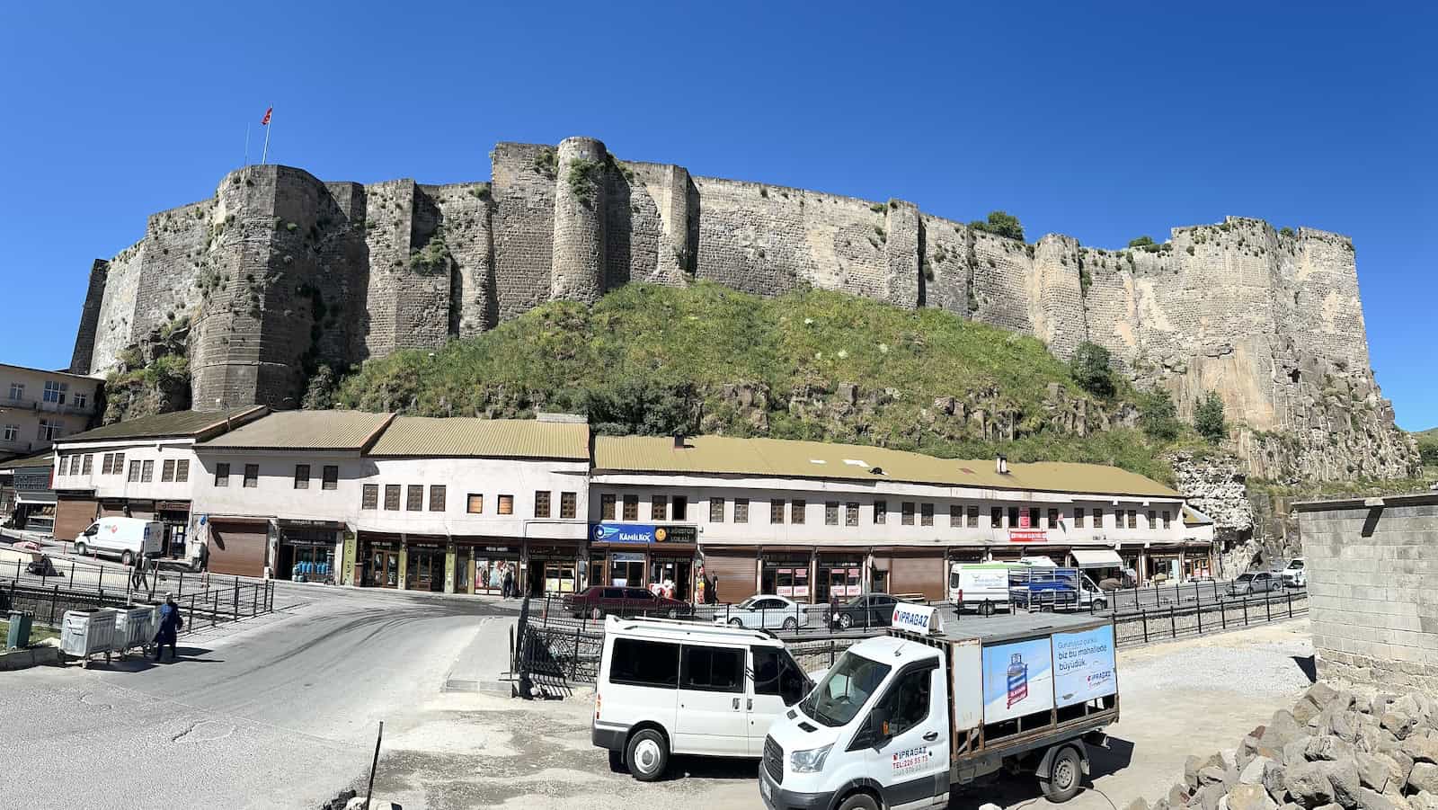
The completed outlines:
<svg viewBox="0 0 1438 810">
<path fill-rule="evenodd" d="M 1234 754 L 1189 757 L 1183 783 L 1127 810 L 1438 810 L 1438 702 L 1314 683 Z"/>
</svg>

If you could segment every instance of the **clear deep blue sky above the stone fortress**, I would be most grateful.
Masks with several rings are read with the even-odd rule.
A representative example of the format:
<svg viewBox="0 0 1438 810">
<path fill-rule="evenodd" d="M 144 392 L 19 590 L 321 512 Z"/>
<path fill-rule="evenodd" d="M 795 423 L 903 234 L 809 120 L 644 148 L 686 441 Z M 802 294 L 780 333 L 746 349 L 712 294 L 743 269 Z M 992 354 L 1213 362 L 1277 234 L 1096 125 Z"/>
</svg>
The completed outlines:
<svg viewBox="0 0 1438 810">
<path fill-rule="evenodd" d="M 318 177 L 483 180 L 496 141 L 870 199 L 1030 237 L 1225 214 L 1350 235 L 1399 424 L 1438 424 L 1431 4 L 0 6 L 0 360 L 69 363 L 86 273 L 209 197 L 275 105 Z M 252 127 L 252 155 L 262 132 Z"/>
</svg>

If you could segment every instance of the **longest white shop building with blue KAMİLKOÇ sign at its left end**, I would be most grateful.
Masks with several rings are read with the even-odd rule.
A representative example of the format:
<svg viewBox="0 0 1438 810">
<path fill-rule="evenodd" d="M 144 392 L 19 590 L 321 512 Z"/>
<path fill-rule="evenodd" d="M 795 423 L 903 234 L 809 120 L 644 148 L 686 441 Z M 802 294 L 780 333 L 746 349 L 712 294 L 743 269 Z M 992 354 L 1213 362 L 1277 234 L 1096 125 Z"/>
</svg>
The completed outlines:
<svg viewBox="0 0 1438 810">
<path fill-rule="evenodd" d="M 936 459 L 881 447 L 699 436 L 597 437 L 595 584 L 702 570 L 720 601 L 866 591 L 940 600 L 953 563 L 1045 555 L 1142 577 L 1150 561 L 1204 561 L 1182 496 L 1116 468 Z M 686 581 L 687 574 L 687 581 Z"/>
</svg>

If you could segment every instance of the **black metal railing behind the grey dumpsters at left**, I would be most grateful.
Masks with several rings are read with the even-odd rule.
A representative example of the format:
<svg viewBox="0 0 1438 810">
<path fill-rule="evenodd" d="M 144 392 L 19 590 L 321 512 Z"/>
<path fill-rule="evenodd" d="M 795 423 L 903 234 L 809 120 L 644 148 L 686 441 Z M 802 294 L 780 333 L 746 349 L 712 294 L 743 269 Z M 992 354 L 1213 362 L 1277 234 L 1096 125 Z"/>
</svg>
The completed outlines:
<svg viewBox="0 0 1438 810">
<path fill-rule="evenodd" d="M 160 599 L 162 600 L 164 594 Z M 148 590 L 75 590 L 62 588 L 58 583 L 43 587 L 30 581 L 0 580 L 0 613 L 20 610 L 30 613 L 36 624 L 50 627 L 60 626 L 66 610 L 127 607 L 154 601 L 154 594 Z M 180 606 L 184 630 L 214 627 L 275 610 L 275 583 L 234 581 L 226 587 L 191 588 L 188 593 L 175 594 L 175 604 Z"/>
</svg>

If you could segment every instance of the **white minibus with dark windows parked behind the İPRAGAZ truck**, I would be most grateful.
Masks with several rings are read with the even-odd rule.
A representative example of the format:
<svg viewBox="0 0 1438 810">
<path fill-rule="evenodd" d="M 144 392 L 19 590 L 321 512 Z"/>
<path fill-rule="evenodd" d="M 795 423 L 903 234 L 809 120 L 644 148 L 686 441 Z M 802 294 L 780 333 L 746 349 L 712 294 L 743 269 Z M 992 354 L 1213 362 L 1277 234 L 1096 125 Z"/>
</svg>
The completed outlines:
<svg viewBox="0 0 1438 810">
<path fill-rule="evenodd" d="M 766 630 L 610 616 L 591 740 L 641 781 L 664 775 L 670 754 L 756 760 L 812 686 Z"/>
</svg>

